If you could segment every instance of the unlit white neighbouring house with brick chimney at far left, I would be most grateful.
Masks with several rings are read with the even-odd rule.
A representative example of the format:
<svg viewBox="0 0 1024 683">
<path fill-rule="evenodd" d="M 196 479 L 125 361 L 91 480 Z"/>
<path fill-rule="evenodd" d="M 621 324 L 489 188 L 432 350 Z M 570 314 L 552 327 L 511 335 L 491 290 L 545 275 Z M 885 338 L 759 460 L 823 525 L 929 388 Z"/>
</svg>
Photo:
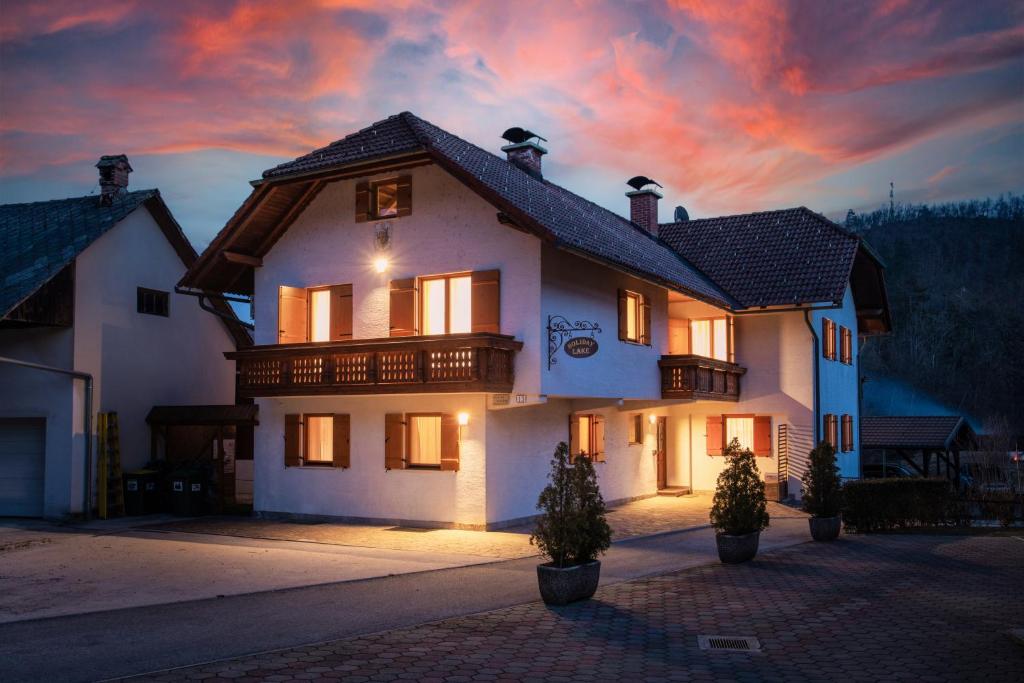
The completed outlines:
<svg viewBox="0 0 1024 683">
<path fill-rule="evenodd" d="M 196 252 L 160 193 L 127 191 L 123 156 L 97 167 L 98 196 L 0 206 L 0 357 L 78 375 L 0 361 L 0 516 L 84 511 L 86 376 L 126 469 L 155 404 L 234 402 L 245 331 L 174 293 Z"/>
</svg>

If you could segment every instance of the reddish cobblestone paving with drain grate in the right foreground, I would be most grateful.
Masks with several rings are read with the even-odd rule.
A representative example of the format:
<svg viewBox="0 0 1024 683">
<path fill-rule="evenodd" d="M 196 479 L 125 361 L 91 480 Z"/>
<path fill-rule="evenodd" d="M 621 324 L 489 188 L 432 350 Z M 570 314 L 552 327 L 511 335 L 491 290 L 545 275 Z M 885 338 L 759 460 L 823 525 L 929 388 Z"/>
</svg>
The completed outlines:
<svg viewBox="0 0 1024 683">
<path fill-rule="evenodd" d="M 180 669 L 158 681 L 1020 680 L 1024 542 L 844 537 L 350 640 Z M 709 652 L 697 635 L 753 636 Z"/>
</svg>

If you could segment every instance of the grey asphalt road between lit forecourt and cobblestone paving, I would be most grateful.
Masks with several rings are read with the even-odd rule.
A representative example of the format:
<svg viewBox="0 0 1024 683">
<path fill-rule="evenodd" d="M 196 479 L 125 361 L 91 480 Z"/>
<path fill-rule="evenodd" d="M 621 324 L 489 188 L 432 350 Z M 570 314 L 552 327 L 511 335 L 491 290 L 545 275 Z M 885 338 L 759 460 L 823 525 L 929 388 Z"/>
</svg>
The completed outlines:
<svg viewBox="0 0 1024 683">
<path fill-rule="evenodd" d="M 774 519 L 762 550 L 809 540 Z M 602 584 L 717 561 L 714 532 L 616 543 Z M 0 625 L 4 681 L 94 681 L 336 640 L 538 599 L 536 558 Z M 187 566 L 182 566 L 187 571 Z"/>
</svg>

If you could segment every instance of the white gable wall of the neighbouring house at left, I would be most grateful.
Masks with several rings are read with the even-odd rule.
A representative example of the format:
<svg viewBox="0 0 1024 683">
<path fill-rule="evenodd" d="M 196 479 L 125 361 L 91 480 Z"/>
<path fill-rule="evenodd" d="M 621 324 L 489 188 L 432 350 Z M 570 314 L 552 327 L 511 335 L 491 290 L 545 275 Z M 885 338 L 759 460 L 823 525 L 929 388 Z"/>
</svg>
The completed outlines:
<svg viewBox="0 0 1024 683">
<path fill-rule="evenodd" d="M 125 469 L 150 459 L 154 405 L 234 402 L 234 343 L 195 297 L 174 293 L 184 273 L 159 225 L 139 208 L 76 263 L 75 369 L 95 378 L 93 408 L 117 412 Z M 136 288 L 170 292 L 168 317 L 139 313 Z"/>
</svg>

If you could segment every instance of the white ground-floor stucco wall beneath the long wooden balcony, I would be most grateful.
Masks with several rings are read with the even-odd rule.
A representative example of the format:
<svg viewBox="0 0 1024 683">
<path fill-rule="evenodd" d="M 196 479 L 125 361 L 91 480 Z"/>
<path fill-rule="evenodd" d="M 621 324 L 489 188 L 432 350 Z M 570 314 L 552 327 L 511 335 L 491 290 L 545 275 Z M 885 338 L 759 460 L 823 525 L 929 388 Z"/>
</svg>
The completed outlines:
<svg viewBox="0 0 1024 683">
<path fill-rule="evenodd" d="M 390 523 L 434 522 L 482 526 L 486 522 L 484 394 L 310 396 L 261 398 L 256 428 L 254 509 L 257 512 L 329 515 Z M 387 413 L 465 411 L 458 472 L 385 470 Z M 351 467 L 285 467 L 285 416 L 351 416 Z"/>
</svg>

